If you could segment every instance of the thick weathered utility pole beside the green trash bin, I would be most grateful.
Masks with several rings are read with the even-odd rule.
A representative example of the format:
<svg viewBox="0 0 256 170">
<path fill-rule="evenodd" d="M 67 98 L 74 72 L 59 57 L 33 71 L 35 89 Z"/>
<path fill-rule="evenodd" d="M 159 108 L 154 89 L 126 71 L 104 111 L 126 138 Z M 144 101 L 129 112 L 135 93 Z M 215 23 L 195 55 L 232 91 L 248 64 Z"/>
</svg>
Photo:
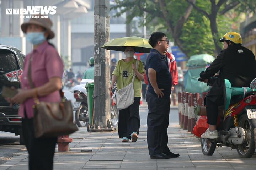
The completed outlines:
<svg viewBox="0 0 256 170">
<path fill-rule="evenodd" d="M 94 125 L 91 131 L 112 131 L 110 117 L 110 51 L 101 48 L 110 40 L 109 0 L 94 1 Z"/>
</svg>

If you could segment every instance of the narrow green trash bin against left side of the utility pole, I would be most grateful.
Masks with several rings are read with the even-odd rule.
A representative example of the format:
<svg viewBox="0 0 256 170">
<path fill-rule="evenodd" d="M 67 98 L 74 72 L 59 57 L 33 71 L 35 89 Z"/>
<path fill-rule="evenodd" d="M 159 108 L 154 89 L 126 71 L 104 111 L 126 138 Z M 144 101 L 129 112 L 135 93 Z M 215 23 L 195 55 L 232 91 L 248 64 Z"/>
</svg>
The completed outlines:
<svg viewBox="0 0 256 170">
<path fill-rule="evenodd" d="M 87 90 L 87 104 L 88 104 L 88 112 L 89 112 L 89 124 L 93 125 L 93 105 L 94 105 L 94 99 L 93 99 L 93 91 L 94 91 L 94 83 L 86 83 L 85 88 Z M 89 125 L 89 126 L 90 126 Z M 87 126 L 88 128 L 88 126 Z"/>
</svg>

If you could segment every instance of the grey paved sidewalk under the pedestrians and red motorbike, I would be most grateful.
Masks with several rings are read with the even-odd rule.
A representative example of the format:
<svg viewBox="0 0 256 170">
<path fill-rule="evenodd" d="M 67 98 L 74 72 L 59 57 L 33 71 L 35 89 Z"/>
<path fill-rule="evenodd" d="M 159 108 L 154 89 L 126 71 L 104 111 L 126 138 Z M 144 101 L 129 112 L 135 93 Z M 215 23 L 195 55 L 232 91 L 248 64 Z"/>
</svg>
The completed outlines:
<svg viewBox="0 0 256 170">
<path fill-rule="evenodd" d="M 141 128 L 137 142 L 121 142 L 118 132 L 88 133 L 85 128 L 71 137 L 70 152 L 55 153 L 54 169 L 89 170 L 255 170 L 256 155 L 241 159 L 236 150 L 220 147 L 213 156 L 204 156 L 198 138 L 171 125 L 168 130 L 169 147 L 180 157 L 150 159 L 146 142 L 146 128 Z M 22 151 L 0 165 L 0 170 L 28 169 L 28 153 Z"/>
</svg>

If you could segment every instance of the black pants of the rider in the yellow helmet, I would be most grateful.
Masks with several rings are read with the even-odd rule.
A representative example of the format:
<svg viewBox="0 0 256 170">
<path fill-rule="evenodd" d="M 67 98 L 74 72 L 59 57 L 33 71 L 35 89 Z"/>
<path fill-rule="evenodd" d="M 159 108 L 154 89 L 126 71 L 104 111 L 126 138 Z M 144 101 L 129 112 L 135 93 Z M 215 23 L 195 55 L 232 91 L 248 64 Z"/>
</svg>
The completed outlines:
<svg viewBox="0 0 256 170">
<path fill-rule="evenodd" d="M 206 97 L 206 113 L 208 124 L 217 125 L 218 108 L 222 105 L 224 105 L 223 95 Z"/>
</svg>

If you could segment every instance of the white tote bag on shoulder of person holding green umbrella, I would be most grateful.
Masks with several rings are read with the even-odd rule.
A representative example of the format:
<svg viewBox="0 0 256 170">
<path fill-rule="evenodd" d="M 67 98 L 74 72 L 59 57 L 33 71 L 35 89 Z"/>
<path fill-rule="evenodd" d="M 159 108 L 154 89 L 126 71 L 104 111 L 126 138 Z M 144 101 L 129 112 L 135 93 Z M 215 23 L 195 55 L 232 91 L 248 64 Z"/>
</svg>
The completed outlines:
<svg viewBox="0 0 256 170">
<path fill-rule="evenodd" d="M 136 61 L 136 68 L 138 69 L 139 62 Z M 116 95 L 117 100 L 117 109 L 122 110 L 128 108 L 134 102 L 134 89 L 133 89 L 133 82 L 136 75 L 133 76 L 132 82 L 128 84 L 126 87 L 123 87 L 116 91 L 113 94 L 113 97 Z"/>
</svg>

